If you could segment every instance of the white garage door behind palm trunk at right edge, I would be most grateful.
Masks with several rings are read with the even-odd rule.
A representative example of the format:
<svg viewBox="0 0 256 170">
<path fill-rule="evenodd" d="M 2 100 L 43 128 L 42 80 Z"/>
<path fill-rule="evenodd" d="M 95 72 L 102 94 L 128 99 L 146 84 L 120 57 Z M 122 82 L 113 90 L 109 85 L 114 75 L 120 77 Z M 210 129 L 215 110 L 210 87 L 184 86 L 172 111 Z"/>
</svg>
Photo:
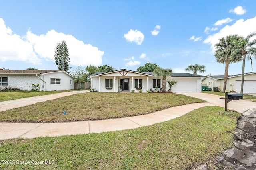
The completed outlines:
<svg viewBox="0 0 256 170">
<path fill-rule="evenodd" d="M 241 80 L 236 80 L 236 92 L 241 91 Z M 256 81 L 255 80 L 244 80 L 243 93 L 256 93 Z"/>
</svg>

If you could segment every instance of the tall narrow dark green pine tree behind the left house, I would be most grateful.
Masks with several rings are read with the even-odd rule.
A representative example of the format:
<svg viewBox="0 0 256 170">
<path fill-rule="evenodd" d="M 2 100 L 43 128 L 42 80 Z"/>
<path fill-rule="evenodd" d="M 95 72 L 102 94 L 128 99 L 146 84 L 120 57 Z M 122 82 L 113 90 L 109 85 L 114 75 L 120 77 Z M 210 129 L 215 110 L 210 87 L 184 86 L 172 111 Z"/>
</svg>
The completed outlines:
<svg viewBox="0 0 256 170">
<path fill-rule="evenodd" d="M 70 57 L 66 41 L 62 41 L 62 43 L 57 43 L 54 55 L 54 62 L 58 66 L 58 70 L 64 70 L 66 72 L 70 70 Z"/>
</svg>

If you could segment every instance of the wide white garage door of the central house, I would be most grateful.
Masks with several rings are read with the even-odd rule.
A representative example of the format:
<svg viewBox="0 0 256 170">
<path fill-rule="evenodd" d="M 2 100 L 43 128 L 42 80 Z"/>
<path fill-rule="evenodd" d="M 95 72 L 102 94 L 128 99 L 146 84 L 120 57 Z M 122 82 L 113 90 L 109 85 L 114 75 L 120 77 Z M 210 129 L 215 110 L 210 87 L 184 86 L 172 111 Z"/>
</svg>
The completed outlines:
<svg viewBox="0 0 256 170">
<path fill-rule="evenodd" d="M 172 92 L 196 92 L 197 80 L 177 80 L 178 83 L 172 87 Z"/>
</svg>

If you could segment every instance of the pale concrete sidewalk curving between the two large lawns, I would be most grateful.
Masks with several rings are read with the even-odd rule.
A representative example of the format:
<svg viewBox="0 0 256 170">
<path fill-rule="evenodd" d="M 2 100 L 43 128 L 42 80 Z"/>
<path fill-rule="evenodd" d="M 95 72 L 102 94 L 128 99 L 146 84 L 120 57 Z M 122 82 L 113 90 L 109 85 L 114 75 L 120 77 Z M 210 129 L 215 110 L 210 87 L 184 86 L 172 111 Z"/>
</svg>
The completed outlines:
<svg viewBox="0 0 256 170">
<path fill-rule="evenodd" d="M 7 123 L 0 122 L 0 140 L 11 138 L 34 138 L 87 133 L 100 133 L 124 129 L 134 129 L 160 123 L 184 115 L 194 109 L 212 106 L 209 103 L 187 104 L 172 107 L 155 113 L 120 119 L 79 121 L 64 123 Z"/>
</svg>

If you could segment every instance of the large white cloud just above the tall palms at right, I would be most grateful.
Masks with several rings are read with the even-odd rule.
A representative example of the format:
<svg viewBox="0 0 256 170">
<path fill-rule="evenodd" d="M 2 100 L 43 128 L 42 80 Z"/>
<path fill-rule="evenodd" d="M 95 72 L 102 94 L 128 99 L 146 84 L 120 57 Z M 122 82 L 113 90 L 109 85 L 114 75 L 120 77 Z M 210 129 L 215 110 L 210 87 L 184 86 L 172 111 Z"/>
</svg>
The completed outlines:
<svg viewBox="0 0 256 170">
<path fill-rule="evenodd" d="M 209 43 L 212 47 L 212 52 L 215 52 L 214 45 L 219 42 L 219 39 L 226 37 L 227 35 L 238 34 L 240 36 L 246 37 L 250 33 L 256 33 L 256 16 L 254 18 L 249 18 L 244 21 L 244 19 L 237 20 L 233 25 L 226 25 L 224 28 L 220 29 L 218 33 L 209 35 L 203 43 Z"/>
</svg>

